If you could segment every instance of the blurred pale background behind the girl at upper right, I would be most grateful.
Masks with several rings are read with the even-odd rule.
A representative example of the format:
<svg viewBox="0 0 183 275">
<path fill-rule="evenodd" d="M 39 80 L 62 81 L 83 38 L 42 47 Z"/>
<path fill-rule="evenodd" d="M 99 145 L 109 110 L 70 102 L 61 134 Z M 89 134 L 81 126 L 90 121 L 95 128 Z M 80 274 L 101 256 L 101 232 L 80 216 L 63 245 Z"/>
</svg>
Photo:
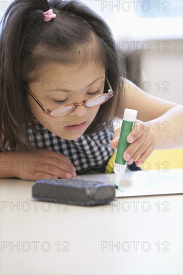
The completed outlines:
<svg viewBox="0 0 183 275">
<path fill-rule="evenodd" d="M 182 1 L 80 0 L 110 27 L 128 79 L 182 104 Z"/>
</svg>

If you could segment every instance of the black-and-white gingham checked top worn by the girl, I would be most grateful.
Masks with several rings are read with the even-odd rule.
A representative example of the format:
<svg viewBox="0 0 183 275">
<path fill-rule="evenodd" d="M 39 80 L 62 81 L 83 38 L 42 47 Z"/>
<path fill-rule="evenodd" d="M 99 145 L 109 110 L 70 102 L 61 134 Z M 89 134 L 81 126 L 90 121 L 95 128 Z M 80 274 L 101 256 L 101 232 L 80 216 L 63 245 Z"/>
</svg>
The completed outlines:
<svg viewBox="0 0 183 275">
<path fill-rule="evenodd" d="M 36 133 L 28 129 L 32 145 L 39 149 L 47 148 L 65 155 L 71 160 L 77 173 L 104 171 L 108 159 L 114 151 L 109 145 L 113 138 L 111 126 L 89 136 L 81 135 L 77 139 L 66 140 L 50 132 L 38 121 L 34 123 Z"/>
</svg>

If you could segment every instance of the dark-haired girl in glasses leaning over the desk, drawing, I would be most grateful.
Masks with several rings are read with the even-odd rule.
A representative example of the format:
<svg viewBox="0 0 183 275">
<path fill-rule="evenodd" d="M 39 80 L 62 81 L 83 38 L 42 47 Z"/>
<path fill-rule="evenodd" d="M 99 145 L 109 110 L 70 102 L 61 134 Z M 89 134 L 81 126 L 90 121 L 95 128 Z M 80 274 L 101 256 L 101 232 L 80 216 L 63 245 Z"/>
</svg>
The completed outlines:
<svg viewBox="0 0 183 275">
<path fill-rule="evenodd" d="M 1 26 L 0 96 L 1 177 L 104 171 L 118 143 L 113 121 L 124 108 L 138 111 L 123 155 L 129 167 L 153 149 L 181 146 L 181 105 L 125 78 L 109 27 L 78 1 L 10 4 Z M 168 122 L 168 131 L 158 131 L 157 121 Z"/>
</svg>

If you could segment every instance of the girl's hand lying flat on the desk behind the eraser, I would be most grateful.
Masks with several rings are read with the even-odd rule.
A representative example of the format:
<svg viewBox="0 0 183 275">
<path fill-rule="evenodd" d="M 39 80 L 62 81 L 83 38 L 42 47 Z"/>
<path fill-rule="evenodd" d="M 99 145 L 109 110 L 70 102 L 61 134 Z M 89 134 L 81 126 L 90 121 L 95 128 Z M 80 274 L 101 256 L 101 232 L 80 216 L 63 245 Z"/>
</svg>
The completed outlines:
<svg viewBox="0 0 183 275">
<path fill-rule="evenodd" d="M 14 176 L 24 180 L 38 180 L 41 178 L 70 178 L 76 176 L 76 169 L 70 159 L 63 154 L 39 149 L 39 152 L 18 152 L 12 153 L 12 162 L 19 169 L 15 171 Z M 16 168 L 14 167 L 14 170 Z"/>
</svg>

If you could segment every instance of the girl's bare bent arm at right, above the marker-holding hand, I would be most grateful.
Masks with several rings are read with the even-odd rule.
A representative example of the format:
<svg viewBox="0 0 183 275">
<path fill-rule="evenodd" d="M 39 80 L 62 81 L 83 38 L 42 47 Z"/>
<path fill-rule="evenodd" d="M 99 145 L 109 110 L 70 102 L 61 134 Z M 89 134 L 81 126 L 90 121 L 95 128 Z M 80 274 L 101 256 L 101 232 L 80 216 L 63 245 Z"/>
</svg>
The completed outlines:
<svg viewBox="0 0 183 275">
<path fill-rule="evenodd" d="M 141 127 L 154 132 L 154 149 L 182 146 L 182 105 L 147 94 L 127 79 L 124 82 L 124 94 L 125 106 L 121 118 L 124 107 L 136 109 L 137 119 L 147 121 Z"/>
</svg>

